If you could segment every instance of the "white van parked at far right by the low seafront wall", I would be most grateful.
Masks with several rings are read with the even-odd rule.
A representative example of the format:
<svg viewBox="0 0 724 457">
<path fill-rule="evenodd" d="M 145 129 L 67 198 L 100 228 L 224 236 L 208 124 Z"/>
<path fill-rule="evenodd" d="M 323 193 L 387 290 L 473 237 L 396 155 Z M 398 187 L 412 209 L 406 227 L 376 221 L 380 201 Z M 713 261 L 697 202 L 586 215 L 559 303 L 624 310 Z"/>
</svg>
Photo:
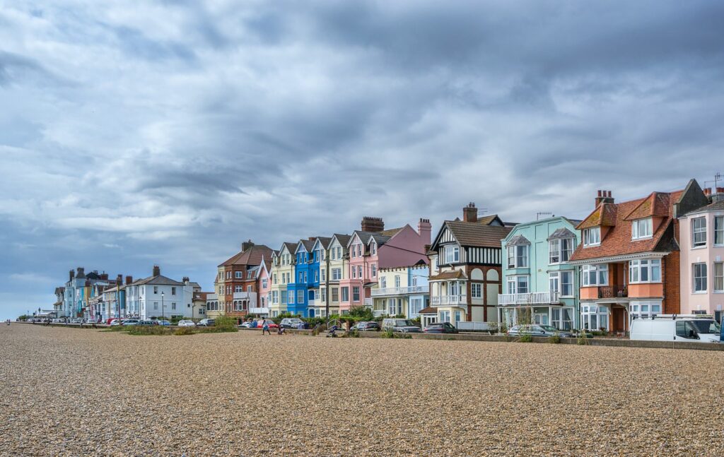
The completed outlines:
<svg viewBox="0 0 724 457">
<path fill-rule="evenodd" d="M 719 343 L 721 328 L 706 315 L 658 315 L 634 319 L 630 338 L 649 341 L 699 341 Z"/>
</svg>

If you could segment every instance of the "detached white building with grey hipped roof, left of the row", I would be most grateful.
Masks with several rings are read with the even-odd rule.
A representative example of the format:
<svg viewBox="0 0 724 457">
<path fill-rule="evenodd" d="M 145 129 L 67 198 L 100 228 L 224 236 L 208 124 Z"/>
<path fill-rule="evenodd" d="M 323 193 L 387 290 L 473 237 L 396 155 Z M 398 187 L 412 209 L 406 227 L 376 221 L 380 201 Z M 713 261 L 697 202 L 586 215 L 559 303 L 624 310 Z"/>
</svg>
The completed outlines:
<svg viewBox="0 0 724 457">
<path fill-rule="evenodd" d="M 197 283 L 190 282 L 188 278 L 180 282 L 161 276 L 161 268 L 154 265 L 153 276 L 126 286 L 129 314 L 138 315 L 140 319 L 151 319 L 151 317 L 167 319 L 180 315 L 192 317 L 193 294 L 200 290 L 201 287 Z"/>
</svg>

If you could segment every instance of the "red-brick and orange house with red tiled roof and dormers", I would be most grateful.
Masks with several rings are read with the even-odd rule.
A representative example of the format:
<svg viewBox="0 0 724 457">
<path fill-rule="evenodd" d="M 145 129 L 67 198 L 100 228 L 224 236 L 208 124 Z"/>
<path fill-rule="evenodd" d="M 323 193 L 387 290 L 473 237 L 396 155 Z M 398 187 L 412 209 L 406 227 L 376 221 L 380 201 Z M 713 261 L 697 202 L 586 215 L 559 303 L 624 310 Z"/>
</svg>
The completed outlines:
<svg viewBox="0 0 724 457">
<path fill-rule="evenodd" d="M 581 271 L 584 328 L 623 333 L 632 319 L 680 311 L 677 217 L 702 199 L 694 179 L 686 189 L 626 202 L 598 191 L 595 209 L 576 227 L 582 242 L 571 256 Z"/>
</svg>

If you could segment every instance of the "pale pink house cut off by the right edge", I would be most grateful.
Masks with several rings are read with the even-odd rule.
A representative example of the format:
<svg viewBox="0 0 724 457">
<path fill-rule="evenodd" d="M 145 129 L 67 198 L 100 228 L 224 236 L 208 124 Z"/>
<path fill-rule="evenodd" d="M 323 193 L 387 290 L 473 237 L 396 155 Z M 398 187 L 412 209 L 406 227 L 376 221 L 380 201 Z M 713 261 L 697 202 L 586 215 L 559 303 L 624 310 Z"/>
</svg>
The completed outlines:
<svg viewBox="0 0 724 457">
<path fill-rule="evenodd" d="M 681 226 L 681 312 L 724 312 L 724 187 L 704 189 L 710 204 L 679 218 Z"/>
</svg>

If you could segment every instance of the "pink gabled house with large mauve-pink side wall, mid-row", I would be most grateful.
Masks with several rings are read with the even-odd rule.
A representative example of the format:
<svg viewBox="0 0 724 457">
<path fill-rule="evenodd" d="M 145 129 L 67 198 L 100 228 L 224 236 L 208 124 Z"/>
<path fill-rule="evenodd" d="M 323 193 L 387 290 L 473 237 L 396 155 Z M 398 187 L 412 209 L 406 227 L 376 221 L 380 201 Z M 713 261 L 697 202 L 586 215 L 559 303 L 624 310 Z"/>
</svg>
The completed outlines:
<svg viewBox="0 0 724 457">
<path fill-rule="evenodd" d="M 340 281 L 340 312 L 353 306 L 371 306 L 371 288 L 377 283 L 379 268 L 395 268 L 427 263 L 432 225 L 420 219 L 417 231 L 409 224 L 384 230 L 382 218 L 362 218 L 348 242 L 348 276 Z"/>
</svg>

